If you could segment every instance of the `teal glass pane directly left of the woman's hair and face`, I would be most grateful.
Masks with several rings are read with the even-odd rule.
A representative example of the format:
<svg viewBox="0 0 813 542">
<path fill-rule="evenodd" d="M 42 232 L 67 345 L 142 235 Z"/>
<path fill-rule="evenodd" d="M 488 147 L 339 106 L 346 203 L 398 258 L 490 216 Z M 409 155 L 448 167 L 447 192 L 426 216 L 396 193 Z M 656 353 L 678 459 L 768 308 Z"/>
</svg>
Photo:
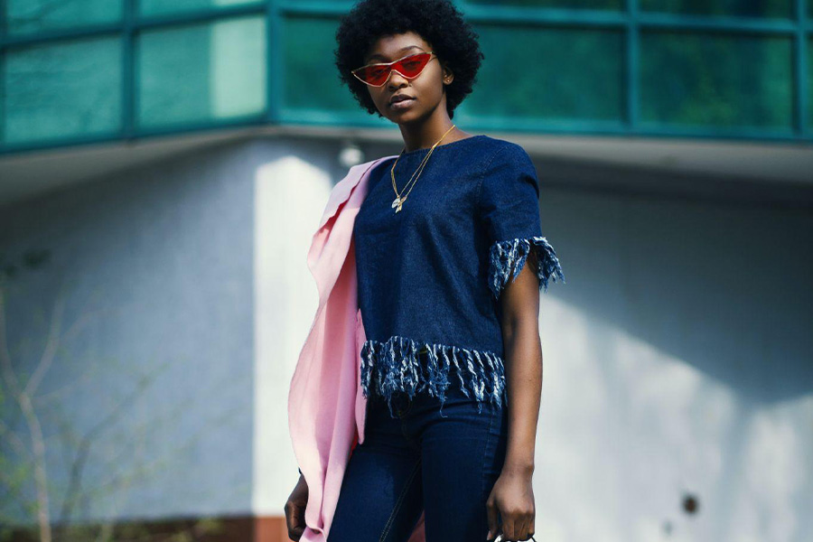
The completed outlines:
<svg viewBox="0 0 813 542">
<path fill-rule="evenodd" d="M 341 83 L 333 63 L 337 26 L 332 19 L 285 18 L 285 108 L 367 113 Z"/>
</svg>

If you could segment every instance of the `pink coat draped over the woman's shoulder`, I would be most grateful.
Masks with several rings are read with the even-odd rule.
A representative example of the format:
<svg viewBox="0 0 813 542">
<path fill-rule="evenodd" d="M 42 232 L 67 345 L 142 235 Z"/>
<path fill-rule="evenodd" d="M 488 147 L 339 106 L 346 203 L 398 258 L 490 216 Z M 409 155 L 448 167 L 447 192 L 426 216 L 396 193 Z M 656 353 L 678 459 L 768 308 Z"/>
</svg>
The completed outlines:
<svg viewBox="0 0 813 542">
<path fill-rule="evenodd" d="M 309 493 L 302 542 L 326 542 L 350 454 L 364 442 L 360 352 L 366 335 L 352 233 L 369 172 L 388 158 L 395 156 L 352 166 L 333 187 L 308 251 L 319 306 L 288 393 L 288 429 Z M 423 514 L 408 542 L 425 542 Z"/>
</svg>

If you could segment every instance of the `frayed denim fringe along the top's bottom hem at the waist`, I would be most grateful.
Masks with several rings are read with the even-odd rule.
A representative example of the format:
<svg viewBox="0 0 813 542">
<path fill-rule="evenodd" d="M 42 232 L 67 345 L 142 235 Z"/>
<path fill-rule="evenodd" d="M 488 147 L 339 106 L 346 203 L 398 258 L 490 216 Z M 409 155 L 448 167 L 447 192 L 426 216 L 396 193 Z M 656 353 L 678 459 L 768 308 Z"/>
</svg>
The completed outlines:
<svg viewBox="0 0 813 542">
<path fill-rule="evenodd" d="M 427 354 L 426 363 L 420 359 L 422 353 Z M 361 347 L 362 392 L 365 397 L 371 393 L 383 397 L 392 417 L 396 417 L 392 408 L 394 394 L 403 392 L 412 399 L 422 391 L 440 399 L 443 416 L 452 368 L 463 394 L 477 401 L 478 412 L 482 412 L 485 401 L 500 408 L 507 400 L 503 360 L 491 351 L 430 344 L 400 335 L 385 342 L 368 340 Z"/>
</svg>

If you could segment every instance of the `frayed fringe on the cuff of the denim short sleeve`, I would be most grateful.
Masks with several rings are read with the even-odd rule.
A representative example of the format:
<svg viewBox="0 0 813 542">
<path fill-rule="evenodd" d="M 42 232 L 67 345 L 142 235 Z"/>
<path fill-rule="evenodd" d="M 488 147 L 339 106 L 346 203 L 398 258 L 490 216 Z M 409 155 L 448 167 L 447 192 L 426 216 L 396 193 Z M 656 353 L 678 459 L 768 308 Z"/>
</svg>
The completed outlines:
<svg viewBox="0 0 813 542">
<path fill-rule="evenodd" d="M 534 249 L 539 263 L 534 272 L 539 279 L 539 290 L 547 292 L 548 279 L 565 283 L 565 274 L 559 265 L 556 251 L 544 237 L 516 238 L 498 241 L 491 245 L 489 252 L 489 288 L 494 299 L 498 299 L 502 290 L 513 282 L 528 259 L 531 248 Z"/>
</svg>

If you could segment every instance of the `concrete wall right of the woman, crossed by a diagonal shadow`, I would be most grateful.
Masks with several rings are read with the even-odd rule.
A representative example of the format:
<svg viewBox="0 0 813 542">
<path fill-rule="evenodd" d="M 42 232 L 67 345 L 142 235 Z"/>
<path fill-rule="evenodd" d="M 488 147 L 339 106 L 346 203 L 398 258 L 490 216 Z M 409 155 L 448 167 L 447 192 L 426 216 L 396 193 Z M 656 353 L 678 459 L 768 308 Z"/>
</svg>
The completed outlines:
<svg viewBox="0 0 813 542">
<path fill-rule="evenodd" d="M 813 216 L 544 187 L 542 216 L 567 284 L 542 304 L 537 539 L 808 540 Z"/>
</svg>

